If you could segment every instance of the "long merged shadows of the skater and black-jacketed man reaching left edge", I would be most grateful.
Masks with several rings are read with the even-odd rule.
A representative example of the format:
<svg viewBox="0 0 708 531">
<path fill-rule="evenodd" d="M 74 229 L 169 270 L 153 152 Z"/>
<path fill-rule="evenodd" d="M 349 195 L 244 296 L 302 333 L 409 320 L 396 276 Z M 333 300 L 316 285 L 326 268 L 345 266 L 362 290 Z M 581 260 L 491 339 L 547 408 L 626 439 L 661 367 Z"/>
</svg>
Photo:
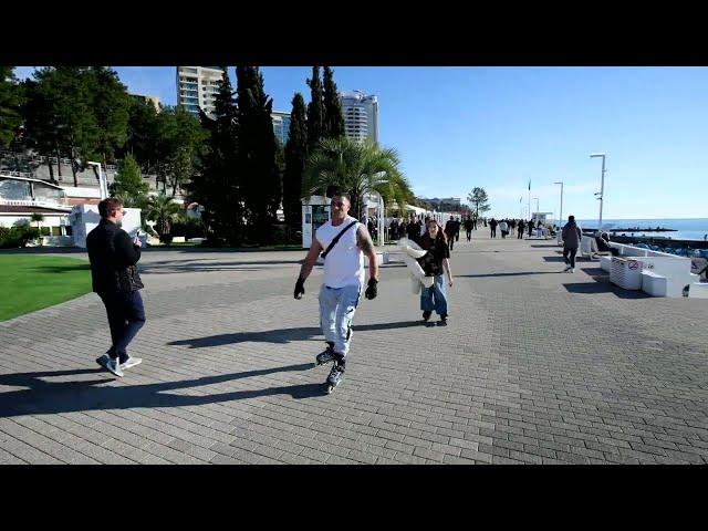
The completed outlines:
<svg viewBox="0 0 708 531">
<path fill-rule="evenodd" d="M 45 415 L 83 412 L 88 409 L 128 409 L 134 407 L 184 407 L 214 404 L 219 402 L 258 398 L 262 396 L 290 395 L 295 399 L 324 395 L 322 384 L 300 384 L 267 389 L 233 391 L 200 396 L 175 395 L 170 391 L 232 382 L 235 379 L 263 376 L 283 372 L 301 372 L 312 368 L 312 363 L 287 365 L 281 367 L 204 376 L 180 382 L 162 382 L 131 386 L 103 386 L 112 379 L 91 379 L 74 382 L 46 382 L 41 378 L 97 374 L 103 369 L 55 371 L 38 373 L 17 373 L 0 375 L 0 385 L 28 387 L 0 394 L 0 418 L 19 415 Z M 104 373 L 105 374 L 105 373 Z"/>
</svg>

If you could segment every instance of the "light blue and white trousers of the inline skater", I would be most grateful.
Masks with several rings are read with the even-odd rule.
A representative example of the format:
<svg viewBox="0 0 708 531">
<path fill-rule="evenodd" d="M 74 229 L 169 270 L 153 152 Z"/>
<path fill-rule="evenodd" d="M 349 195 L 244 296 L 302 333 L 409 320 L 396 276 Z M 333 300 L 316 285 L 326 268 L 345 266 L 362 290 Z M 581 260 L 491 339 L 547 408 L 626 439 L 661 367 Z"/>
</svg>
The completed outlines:
<svg viewBox="0 0 708 531">
<path fill-rule="evenodd" d="M 324 340 L 334 343 L 334 352 L 343 357 L 350 351 L 352 319 L 362 294 L 361 285 L 329 288 L 320 290 L 320 326 Z"/>
</svg>

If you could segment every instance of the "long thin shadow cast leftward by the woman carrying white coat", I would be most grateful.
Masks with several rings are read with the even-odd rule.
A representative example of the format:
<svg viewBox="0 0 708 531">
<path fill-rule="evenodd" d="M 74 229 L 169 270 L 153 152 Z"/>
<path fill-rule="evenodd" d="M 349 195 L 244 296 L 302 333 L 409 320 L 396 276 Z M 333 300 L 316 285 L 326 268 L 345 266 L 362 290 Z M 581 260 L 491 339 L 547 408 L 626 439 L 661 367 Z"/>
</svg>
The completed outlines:
<svg viewBox="0 0 708 531">
<path fill-rule="evenodd" d="M 381 324 L 358 324 L 352 326 L 354 332 L 366 332 L 369 330 L 392 330 L 419 326 L 418 321 L 402 321 L 396 323 Z M 170 346 L 188 346 L 189 348 L 205 348 L 209 346 L 233 345 L 237 343 L 279 343 L 285 344 L 295 341 L 324 341 L 322 329 L 304 326 L 300 329 L 266 330 L 263 332 L 235 332 L 232 334 L 209 335 L 206 337 L 195 337 L 190 340 L 170 341 Z"/>
</svg>

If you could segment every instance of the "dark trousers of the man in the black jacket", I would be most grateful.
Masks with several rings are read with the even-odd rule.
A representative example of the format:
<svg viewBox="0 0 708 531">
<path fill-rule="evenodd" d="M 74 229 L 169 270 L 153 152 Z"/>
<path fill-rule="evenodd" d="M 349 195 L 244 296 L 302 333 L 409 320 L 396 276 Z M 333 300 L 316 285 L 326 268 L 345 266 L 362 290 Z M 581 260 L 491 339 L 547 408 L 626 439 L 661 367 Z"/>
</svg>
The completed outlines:
<svg viewBox="0 0 708 531">
<path fill-rule="evenodd" d="M 145 309 L 139 291 L 131 293 L 98 293 L 103 304 L 106 306 L 108 315 L 108 326 L 111 326 L 111 341 L 113 344 L 108 348 L 108 356 L 112 360 L 119 358 L 119 363 L 125 363 L 128 358 L 127 347 L 133 337 L 145 324 Z"/>
</svg>

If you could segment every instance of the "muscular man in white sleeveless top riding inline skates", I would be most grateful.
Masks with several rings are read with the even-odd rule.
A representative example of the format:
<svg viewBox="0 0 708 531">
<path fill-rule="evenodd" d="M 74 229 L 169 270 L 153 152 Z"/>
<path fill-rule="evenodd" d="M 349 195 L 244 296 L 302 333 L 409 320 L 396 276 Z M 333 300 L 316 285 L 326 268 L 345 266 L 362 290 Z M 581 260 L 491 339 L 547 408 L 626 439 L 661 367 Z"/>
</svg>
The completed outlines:
<svg viewBox="0 0 708 531">
<path fill-rule="evenodd" d="M 294 298 L 301 299 L 305 292 L 305 279 L 312 272 L 320 252 L 329 249 L 320 289 L 320 325 L 327 347 L 315 361 L 315 365 L 334 362 L 326 381 L 327 392 L 342 382 L 344 374 L 352 340 L 352 319 L 364 288 L 364 254 L 368 259 L 369 271 L 366 299 L 376 298 L 378 284 L 374 242 L 366 227 L 348 216 L 348 197 L 332 197 L 331 208 L 332 219 L 316 230 L 294 290 Z M 330 248 L 337 235 L 341 235 L 340 239 Z"/>
</svg>

